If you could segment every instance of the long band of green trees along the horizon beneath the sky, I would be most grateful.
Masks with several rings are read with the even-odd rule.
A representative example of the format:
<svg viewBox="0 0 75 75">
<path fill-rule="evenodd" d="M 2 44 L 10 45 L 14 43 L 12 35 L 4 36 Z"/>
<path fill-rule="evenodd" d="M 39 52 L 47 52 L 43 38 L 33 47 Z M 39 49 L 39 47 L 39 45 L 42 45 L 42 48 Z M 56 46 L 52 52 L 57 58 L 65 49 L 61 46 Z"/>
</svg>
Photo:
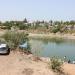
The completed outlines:
<svg viewBox="0 0 75 75">
<path fill-rule="evenodd" d="M 34 21 L 29 22 L 26 18 L 23 21 L 5 21 L 4 23 L 0 21 L 1 29 L 11 29 L 11 27 L 18 27 L 20 30 L 28 29 L 45 29 L 50 32 L 75 32 L 75 21 Z"/>
</svg>

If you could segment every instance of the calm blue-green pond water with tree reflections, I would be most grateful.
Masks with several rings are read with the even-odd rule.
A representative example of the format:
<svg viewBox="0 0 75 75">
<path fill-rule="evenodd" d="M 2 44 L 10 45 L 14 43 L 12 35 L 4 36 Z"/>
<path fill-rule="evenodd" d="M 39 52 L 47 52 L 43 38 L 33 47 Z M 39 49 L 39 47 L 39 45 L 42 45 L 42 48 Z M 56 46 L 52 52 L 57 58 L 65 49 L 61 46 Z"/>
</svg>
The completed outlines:
<svg viewBox="0 0 75 75">
<path fill-rule="evenodd" d="M 57 56 L 75 60 L 75 41 L 62 39 L 30 39 L 31 51 L 43 57 Z"/>
</svg>

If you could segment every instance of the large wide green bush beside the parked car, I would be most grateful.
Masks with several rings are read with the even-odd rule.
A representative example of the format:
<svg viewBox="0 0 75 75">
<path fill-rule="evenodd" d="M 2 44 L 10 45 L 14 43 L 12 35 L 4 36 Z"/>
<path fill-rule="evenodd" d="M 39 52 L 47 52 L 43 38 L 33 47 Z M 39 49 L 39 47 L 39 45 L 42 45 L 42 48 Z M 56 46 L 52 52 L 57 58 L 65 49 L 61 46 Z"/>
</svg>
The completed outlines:
<svg viewBox="0 0 75 75">
<path fill-rule="evenodd" d="M 28 34 L 25 34 L 24 32 L 12 32 L 7 31 L 2 38 L 6 41 L 6 43 L 9 45 L 11 49 L 16 49 L 21 42 L 25 42 L 28 40 L 27 38 Z"/>
</svg>

